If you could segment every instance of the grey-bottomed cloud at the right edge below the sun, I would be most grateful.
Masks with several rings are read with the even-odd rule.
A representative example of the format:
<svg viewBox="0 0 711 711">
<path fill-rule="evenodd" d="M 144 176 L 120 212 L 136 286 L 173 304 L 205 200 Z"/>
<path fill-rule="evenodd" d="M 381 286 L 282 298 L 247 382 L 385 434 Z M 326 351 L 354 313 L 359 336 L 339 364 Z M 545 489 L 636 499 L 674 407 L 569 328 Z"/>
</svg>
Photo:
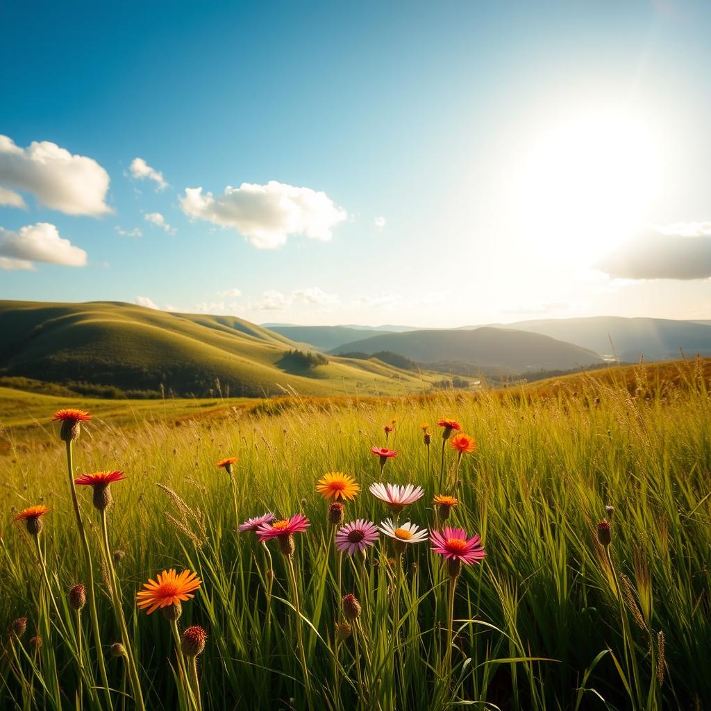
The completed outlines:
<svg viewBox="0 0 711 711">
<path fill-rule="evenodd" d="M 676 232 L 670 228 L 638 232 L 596 267 L 618 279 L 707 279 L 711 277 L 711 230 L 699 225 L 709 223 L 670 225 Z"/>
</svg>

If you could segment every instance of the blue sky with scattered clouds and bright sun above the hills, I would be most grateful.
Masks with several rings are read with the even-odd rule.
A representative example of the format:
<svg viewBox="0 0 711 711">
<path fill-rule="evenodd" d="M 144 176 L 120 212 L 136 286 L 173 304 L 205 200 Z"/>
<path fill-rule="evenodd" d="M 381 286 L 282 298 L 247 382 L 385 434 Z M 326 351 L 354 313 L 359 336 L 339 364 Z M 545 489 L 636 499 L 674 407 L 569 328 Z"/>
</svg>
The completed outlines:
<svg viewBox="0 0 711 711">
<path fill-rule="evenodd" d="M 10 4 L 0 299 L 711 319 L 711 4 Z"/>
</svg>

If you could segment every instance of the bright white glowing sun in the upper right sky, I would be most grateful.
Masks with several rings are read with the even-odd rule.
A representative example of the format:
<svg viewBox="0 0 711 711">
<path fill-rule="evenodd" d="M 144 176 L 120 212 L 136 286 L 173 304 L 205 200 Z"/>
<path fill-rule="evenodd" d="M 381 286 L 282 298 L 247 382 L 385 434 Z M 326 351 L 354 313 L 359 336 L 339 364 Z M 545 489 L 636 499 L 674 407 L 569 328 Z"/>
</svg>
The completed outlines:
<svg viewBox="0 0 711 711">
<path fill-rule="evenodd" d="M 558 114 L 521 150 L 513 208 L 548 257 L 593 264 L 642 225 L 661 191 L 653 119 L 621 109 Z"/>
</svg>

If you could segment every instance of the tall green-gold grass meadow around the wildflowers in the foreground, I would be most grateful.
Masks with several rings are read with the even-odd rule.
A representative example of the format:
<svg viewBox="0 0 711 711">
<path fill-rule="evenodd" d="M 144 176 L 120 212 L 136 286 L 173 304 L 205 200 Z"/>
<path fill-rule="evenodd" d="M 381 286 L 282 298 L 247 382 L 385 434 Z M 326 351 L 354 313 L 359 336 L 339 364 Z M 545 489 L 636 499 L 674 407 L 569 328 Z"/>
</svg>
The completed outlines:
<svg viewBox="0 0 711 711">
<path fill-rule="evenodd" d="M 91 491 L 77 487 L 108 692 L 89 606 L 77 624 L 67 599 L 71 586 L 87 584 L 87 566 L 65 445 L 59 426 L 48 424 L 58 401 L 65 403 L 28 395 L 38 398 L 31 419 L 41 427 L 17 410 L 0 410 L 7 442 L 0 456 L 0 707 L 135 707 L 129 664 L 109 654 L 122 638 L 112 587 L 122 596 L 149 709 L 707 708 L 709 392 L 708 363 L 697 361 L 523 390 L 293 398 L 251 410 L 223 403 L 219 417 L 95 410 L 99 417 L 73 445 L 73 475 L 114 469 L 127 475 L 111 485 L 107 510 L 109 550 L 125 552 L 115 565 L 120 585 L 112 585 L 110 565 L 101 562 Z M 442 418 L 456 419 L 477 442 L 461 458 L 456 491 L 456 451 L 449 445 L 448 483 L 439 488 Z M 387 447 L 398 454 L 385 464 L 383 481 L 414 483 L 425 492 L 402 511 L 400 523 L 441 528 L 433 496 L 454 493 L 460 503 L 450 522 L 481 535 L 486 550 L 481 565 L 464 565 L 456 579 L 450 647 L 447 567 L 429 543 L 407 545 L 400 560 L 380 535 L 364 560 L 342 558 L 338 589 L 334 527 L 316 481 L 342 471 L 360 483 L 360 494 L 344 506 L 346 522 L 388 518 L 368 486 L 380 474 L 370 447 L 386 446 L 383 428 L 393 419 Z M 422 423 L 432 433 L 429 449 Z M 239 458 L 232 479 L 215 467 L 228 456 Z M 14 511 L 36 504 L 51 509 L 38 537 L 42 558 L 33 536 L 12 523 Z M 264 547 L 254 533 L 235 531 L 237 520 L 266 511 L 311 521 L 294 535 L 296 590 L 289 559 L 267 543 L 274 570 L 269 601 Z M 609 547 L 597 533 L 606 516 Z M 200 625 L 208 634 L 196 679 L 176 654 L 171 623 L 135 604 L 141 586 L 171 568 L 197 572 L 202 581 L 178 621 L 180 631 Z M 348 593 L 360 601 L 360 616 L 351 620 L 349 636 L 342 626 L 337 636 L 340 598 Z M 21 616 L 27 631 L 7 632 Z M 31 642 L 38 635 L 39 647 Z"/>
</svg>

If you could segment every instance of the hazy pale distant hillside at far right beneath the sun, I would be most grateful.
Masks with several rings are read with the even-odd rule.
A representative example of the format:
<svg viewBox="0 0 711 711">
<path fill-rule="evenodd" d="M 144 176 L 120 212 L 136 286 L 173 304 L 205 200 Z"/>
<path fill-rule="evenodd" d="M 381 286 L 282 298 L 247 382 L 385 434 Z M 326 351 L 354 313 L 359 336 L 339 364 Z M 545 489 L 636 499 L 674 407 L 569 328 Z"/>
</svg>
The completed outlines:
<svg viewBox="0 0 711 711">
<path fill-rule="evenodd" d="M 542 319 L 496 324 L 498 328 L 540 333 L 574 343 L 620 360 L 673 360 L 679 349 L 687 355 L 711 355 L 711 322 L 672 319 L 624 319 L 592 316 L 585 319 Z M 468 327 L 469 328 L 469 327 Z"/>
</svg>

